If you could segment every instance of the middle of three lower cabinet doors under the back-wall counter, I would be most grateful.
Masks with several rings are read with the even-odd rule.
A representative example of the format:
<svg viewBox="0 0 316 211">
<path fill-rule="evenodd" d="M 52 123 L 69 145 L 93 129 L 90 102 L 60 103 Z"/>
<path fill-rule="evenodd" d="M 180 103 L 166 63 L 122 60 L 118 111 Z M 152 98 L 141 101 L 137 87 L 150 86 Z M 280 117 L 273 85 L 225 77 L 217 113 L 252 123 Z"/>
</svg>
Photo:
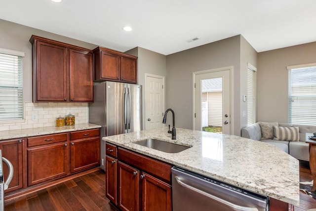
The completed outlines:
<svg viewBox="0 0 316 211">
<path fill-rule="evenodd" d="M 28 149 L 28 185 L 67 175 L 66 142 Z"/>
</svg>

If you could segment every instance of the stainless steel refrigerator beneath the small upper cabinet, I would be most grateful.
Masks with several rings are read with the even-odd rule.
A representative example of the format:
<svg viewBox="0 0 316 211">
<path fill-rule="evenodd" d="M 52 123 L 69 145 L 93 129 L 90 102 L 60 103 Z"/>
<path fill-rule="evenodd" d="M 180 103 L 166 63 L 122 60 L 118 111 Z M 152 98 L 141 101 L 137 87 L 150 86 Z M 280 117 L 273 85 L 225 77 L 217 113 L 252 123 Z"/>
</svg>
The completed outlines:
<svg viewBox="0 0 316 211">
<path fill-rule="evenodd" d="M 139 131 L 142 125 L 142 85 L 119 82 L 94 84 L 89 123 L 101 125 L 104 136 Z M 101 140 L 101 166 L 105 170 L 105 142 Z"/>
</svg>

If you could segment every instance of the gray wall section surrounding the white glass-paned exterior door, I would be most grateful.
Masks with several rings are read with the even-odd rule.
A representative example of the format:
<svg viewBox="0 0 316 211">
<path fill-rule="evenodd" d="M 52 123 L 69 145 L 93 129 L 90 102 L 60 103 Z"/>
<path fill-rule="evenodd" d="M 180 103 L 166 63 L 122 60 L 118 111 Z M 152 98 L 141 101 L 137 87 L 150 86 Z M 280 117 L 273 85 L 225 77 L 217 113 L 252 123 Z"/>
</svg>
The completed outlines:
<svg viewBox="0 0 316 211">
<path fill-rule="evenodd" d="M 192 129 L 192 73 L 220 67 L 234 67 L 234 131 L 240 135 L 240 36 L 201 45 L 167 55 L 166 104 L 176 114 L 176 127 Z"/>
</svg>

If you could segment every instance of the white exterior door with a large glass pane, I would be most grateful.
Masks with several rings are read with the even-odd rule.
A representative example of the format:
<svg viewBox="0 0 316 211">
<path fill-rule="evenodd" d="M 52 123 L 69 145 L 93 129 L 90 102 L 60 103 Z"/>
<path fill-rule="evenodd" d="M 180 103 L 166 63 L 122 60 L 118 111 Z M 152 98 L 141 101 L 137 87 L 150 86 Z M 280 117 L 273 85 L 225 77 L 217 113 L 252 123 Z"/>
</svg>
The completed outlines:
<svg viewBox="0 0 316 211">
<path fill-rule="evenodd" d="M 196 130 L 231 133 L 230 69 L 195 72 Z"/>
</svg>

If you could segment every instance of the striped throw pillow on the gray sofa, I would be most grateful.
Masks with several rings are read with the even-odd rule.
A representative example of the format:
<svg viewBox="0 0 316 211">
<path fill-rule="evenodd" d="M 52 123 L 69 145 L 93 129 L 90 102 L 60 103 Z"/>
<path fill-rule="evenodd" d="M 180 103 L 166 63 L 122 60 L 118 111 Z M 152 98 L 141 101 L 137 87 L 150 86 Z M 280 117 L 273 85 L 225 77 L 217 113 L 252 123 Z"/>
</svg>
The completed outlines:
<svg viewBox="0 0 316 211">
<path fill-rule="evenodd" d="M 273 126 L 273 140 L 299 141 L 299 127 L 278 127 Z"/>
</svg>

